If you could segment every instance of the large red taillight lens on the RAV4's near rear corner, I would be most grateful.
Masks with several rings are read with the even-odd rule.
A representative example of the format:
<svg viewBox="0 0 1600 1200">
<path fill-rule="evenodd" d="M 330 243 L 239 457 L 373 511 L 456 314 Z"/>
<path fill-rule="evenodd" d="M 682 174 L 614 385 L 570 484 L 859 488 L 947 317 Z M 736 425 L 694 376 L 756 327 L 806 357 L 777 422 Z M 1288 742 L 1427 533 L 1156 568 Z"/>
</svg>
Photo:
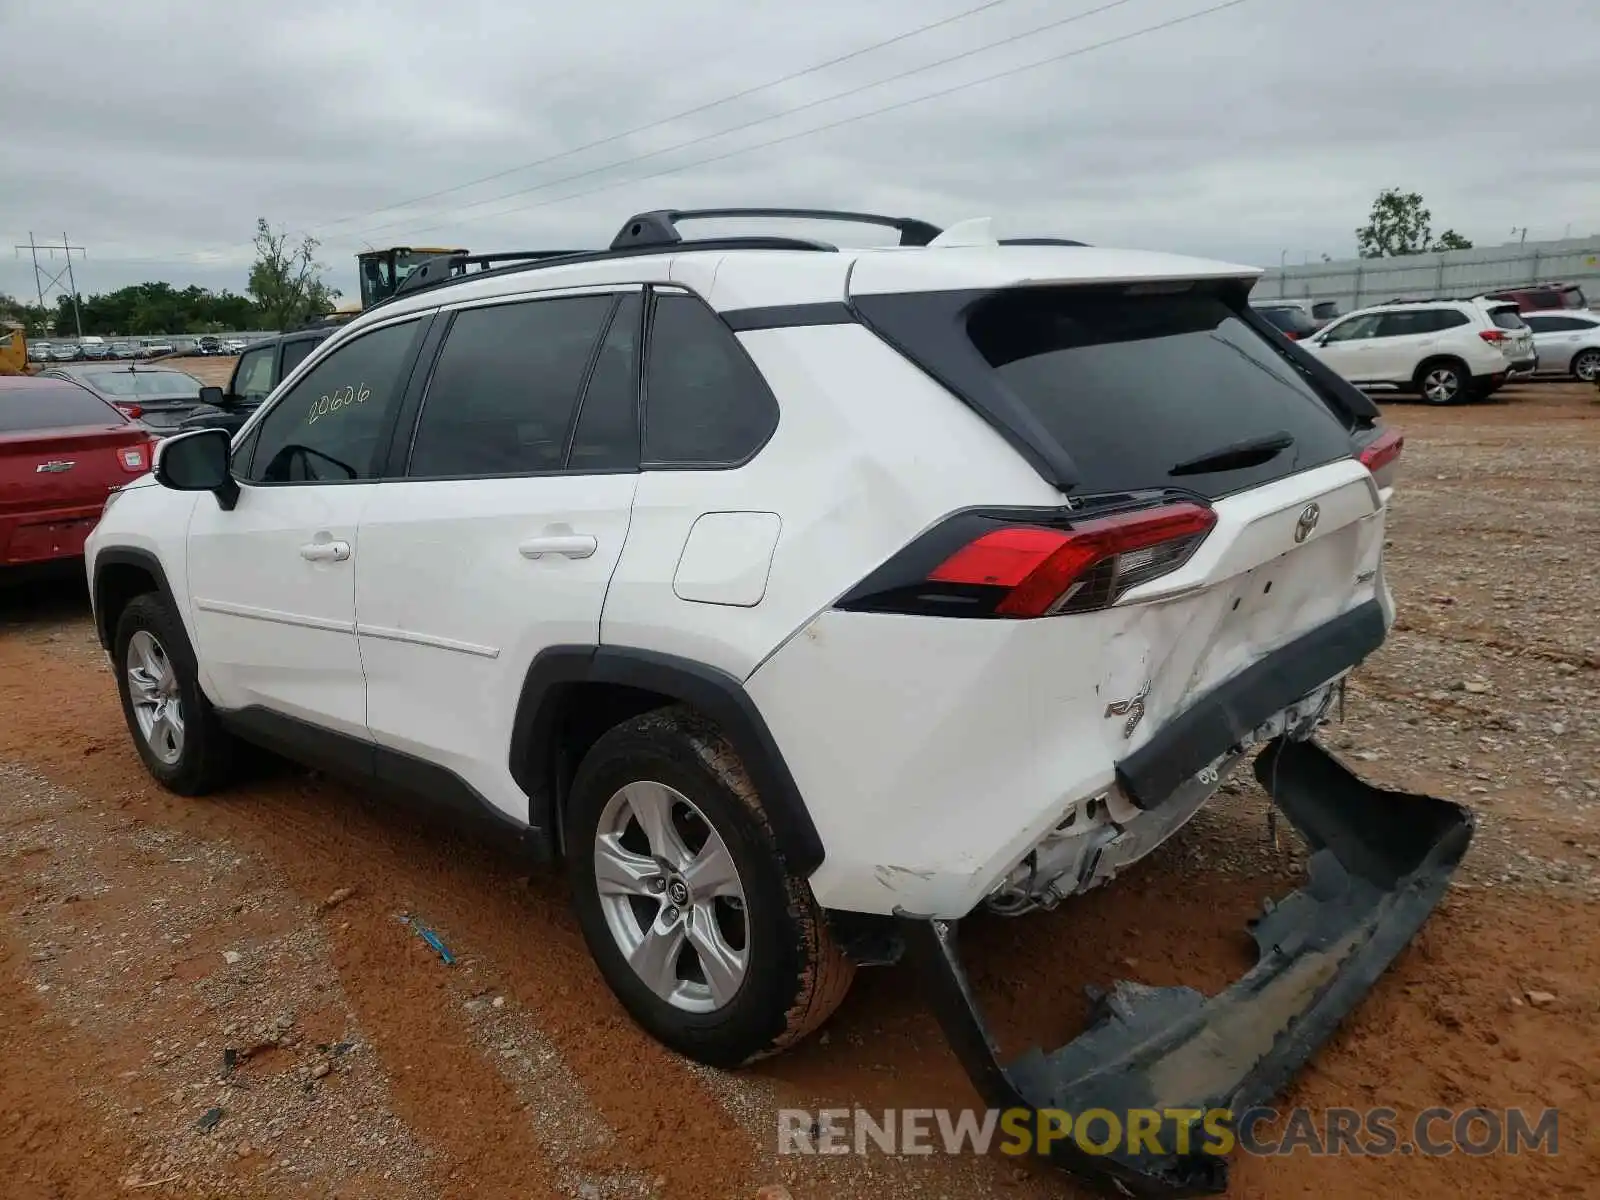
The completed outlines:
<svg viewBox="0 0 1600 1200">
<path fill-rule="evenodd" d="M 1216 525 L 1198 504 L 1083 520 L 1070 530 L 1013 525 L 946 558 L 930 582 L 1005 587 L 997 616 L 1082 613 L 1178 570 Z"/>
</svg>

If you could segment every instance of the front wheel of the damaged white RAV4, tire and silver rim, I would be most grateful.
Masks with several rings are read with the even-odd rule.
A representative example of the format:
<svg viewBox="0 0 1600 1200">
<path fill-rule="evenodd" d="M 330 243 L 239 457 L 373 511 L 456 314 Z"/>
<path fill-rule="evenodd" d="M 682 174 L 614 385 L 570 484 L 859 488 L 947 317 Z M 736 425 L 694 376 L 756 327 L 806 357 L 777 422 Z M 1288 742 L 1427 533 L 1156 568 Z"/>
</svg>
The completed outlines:
<svg viewBox="0 0 1600 1200">
<path fill-rule="evenodd" d="M 189 635 L 155 594 L 134 597 L 117 619 L 112 664 L 122 715 L 146 770 L 179 795 L 205 795 L 234 765 L 234 738 L 200 688 Z"/>
</svg>

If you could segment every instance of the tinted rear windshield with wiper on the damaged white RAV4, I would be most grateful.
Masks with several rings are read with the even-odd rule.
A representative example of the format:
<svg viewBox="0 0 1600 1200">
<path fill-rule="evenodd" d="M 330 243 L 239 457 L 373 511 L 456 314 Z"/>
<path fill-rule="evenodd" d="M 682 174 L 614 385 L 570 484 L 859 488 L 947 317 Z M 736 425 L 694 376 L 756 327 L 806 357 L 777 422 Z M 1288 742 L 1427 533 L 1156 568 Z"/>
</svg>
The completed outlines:
<svg viewBox="0 0 1600 1200">
<path fill-rule="evenodd" d="M 1350 453 L 1347 430 L 1286 355 L 1216 294 L 1018 288 L 979 307 L 968 334 L 1072 456 L 1078 494 L 1221 496 Z M 1202 466 L 1285 438 L 1277 453 Z"/>
</svg>

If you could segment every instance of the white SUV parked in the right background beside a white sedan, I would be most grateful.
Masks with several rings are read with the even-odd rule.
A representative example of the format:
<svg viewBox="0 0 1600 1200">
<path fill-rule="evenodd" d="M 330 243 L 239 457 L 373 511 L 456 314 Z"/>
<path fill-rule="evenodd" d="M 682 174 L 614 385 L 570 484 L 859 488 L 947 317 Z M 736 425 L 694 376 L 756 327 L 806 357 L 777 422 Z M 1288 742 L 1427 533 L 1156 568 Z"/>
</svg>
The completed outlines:
<svg viewBox="0 0 1600 1200">
<path fill-rule="evenodd" d="M 1509 301 L 1397 301 L 1360 309 L 1299 346 L 1360 387 L 1451 405 L 1533 374 L 1533 333 Z"/>
</svg>

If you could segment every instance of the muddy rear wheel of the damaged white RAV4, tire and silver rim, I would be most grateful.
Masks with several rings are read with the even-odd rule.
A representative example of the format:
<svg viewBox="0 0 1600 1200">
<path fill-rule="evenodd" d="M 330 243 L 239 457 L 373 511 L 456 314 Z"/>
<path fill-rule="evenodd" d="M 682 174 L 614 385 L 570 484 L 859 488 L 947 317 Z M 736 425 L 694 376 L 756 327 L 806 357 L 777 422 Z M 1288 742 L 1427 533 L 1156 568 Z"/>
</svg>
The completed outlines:
<svg viewBox="0 0 1600 1200">
<path fill-rule="evenodd" d="M 584 755 L 566 814 L 584 941 L 656 1040 L 738 1067 L 838 1008 L 854 963 L 712 722 L 667 707 L 611 728 Z"/>
</svg>

